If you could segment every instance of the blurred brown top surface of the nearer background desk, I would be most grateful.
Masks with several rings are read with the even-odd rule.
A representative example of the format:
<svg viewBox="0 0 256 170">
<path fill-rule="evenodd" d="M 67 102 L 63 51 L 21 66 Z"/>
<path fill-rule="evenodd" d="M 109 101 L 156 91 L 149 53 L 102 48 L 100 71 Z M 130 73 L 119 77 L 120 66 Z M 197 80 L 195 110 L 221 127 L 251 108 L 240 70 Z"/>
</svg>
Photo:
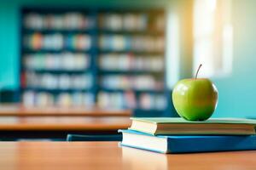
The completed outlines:
<svg viewBox="0 0 256 170">
<path fill-rule="evenodd" d="M 0 131 L 102 131 L 130 125 L 129 117 L 119 116 L 0 116 Z"/>
</svg>

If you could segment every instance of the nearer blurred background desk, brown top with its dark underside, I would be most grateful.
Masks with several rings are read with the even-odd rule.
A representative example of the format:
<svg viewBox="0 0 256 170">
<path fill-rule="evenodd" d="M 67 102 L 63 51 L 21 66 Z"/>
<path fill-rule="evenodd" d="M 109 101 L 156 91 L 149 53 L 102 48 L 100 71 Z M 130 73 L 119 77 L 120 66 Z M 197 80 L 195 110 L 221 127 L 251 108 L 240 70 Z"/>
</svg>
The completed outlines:
<svg viewBox="0 0 256 170">
<path fill-rule="evenodd" d="M 128 116 L 0 116 L 0 140 L 65 140 L 68 133 L 116 134 L 130 125 Z"/>
</svg>

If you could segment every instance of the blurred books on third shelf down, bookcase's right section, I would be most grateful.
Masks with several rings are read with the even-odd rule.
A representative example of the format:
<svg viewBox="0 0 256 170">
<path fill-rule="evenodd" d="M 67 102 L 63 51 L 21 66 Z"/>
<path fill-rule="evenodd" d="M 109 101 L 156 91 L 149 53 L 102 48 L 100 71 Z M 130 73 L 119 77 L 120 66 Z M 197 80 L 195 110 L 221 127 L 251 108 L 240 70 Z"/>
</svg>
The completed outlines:
<svg viewBox="0 0 256 170">
<path fill-rule="evenodd" d="M 102 54 L 99 65 L 103 71 L 163 71 L 165 61 L 161 55 Z"/>
</svg>

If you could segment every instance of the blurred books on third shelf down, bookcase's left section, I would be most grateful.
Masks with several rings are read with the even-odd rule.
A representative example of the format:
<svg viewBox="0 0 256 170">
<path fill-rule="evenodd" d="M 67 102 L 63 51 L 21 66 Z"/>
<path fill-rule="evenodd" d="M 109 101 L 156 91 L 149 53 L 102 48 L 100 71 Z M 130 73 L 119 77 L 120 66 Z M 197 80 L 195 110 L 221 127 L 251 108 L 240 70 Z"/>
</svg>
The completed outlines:
<svg viewBox="0 0 256 170">
<path fill-rule="evenodd" d="M 85 71 L 90 67 L 90 57 L 82 53 L 26 54 L 24 67 L 28 70 Z"/>
</svg>

